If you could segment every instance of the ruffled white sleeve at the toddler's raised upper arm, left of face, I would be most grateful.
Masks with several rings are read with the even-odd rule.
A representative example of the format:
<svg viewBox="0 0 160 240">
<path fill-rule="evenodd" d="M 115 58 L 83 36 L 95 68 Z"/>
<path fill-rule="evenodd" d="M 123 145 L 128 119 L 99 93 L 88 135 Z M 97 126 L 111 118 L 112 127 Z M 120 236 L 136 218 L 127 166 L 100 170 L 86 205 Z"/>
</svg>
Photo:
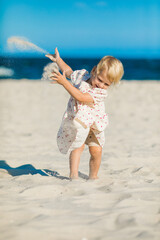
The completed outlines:
<svg viewBox="0 0 160 240">
<path fill-rule="evenodd" d="M 71 82 L 73 85 L 79 85 L 82 81 L 86 81 L 90 77 L 86 69 L 76 70 L 71 74 Z"/>
</svg>

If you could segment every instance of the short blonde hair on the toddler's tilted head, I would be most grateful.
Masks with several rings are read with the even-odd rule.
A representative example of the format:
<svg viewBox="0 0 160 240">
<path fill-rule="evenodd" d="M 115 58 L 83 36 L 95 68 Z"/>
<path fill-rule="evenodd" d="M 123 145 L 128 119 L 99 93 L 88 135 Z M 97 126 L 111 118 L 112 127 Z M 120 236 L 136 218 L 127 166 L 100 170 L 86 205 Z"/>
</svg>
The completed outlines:
<svg viewBox="0 0 160 240">
<path fill-rule="evenodd" d="M 104 56 L 96 67 L 97 75 L 106 71 L 106 77 L 111 83 L 118 83 L 124 74 L 123 65 L 120 60 L 112 56 Z"/>
</svg>

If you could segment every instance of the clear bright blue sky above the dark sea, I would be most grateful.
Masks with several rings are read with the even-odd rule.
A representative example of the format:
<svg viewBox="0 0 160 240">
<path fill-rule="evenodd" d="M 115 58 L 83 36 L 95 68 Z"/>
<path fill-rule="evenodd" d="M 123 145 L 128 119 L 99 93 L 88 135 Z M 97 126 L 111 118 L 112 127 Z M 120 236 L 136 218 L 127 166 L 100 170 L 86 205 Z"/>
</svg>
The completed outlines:
<svg viewBox="0 0 160 240">
<path fill-rule="evenodd" d="M 0 55 L 11 36 L 64 57 L 160 58 L 160 0 L 1 0 Z"/>
</svg>

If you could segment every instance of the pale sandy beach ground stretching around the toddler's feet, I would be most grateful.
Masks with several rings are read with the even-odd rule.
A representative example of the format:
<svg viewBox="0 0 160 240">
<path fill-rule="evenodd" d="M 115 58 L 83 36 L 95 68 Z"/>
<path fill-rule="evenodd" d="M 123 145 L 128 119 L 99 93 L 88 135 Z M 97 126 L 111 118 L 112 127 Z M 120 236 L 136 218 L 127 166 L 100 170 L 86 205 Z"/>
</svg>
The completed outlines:
<svg viewBox="0 0 160 240">
<path fill-rule="evenodd" d="M 69 95 L 41 81 L 0 81 L 0 240 L 160 239 L 160 81 L 122 81 L 99 179 L 79 179 L 56 134 Z"/>
</svg>

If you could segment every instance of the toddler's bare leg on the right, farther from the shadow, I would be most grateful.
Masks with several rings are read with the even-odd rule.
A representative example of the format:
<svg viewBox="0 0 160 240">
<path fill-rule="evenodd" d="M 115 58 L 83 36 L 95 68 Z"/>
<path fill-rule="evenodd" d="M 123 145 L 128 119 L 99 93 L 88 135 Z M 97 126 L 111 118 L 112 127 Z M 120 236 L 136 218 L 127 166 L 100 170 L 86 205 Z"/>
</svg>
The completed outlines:
<svg viewBox="0 0 160 240">
<path fill-rule="evenodd" d="M 89 152 L 91 154 L 90 163 L 89 163 L 89 179 L 97 179 L 98 170 L 101 164 L 102 147 L 90 146 Z"/>
</svg>

